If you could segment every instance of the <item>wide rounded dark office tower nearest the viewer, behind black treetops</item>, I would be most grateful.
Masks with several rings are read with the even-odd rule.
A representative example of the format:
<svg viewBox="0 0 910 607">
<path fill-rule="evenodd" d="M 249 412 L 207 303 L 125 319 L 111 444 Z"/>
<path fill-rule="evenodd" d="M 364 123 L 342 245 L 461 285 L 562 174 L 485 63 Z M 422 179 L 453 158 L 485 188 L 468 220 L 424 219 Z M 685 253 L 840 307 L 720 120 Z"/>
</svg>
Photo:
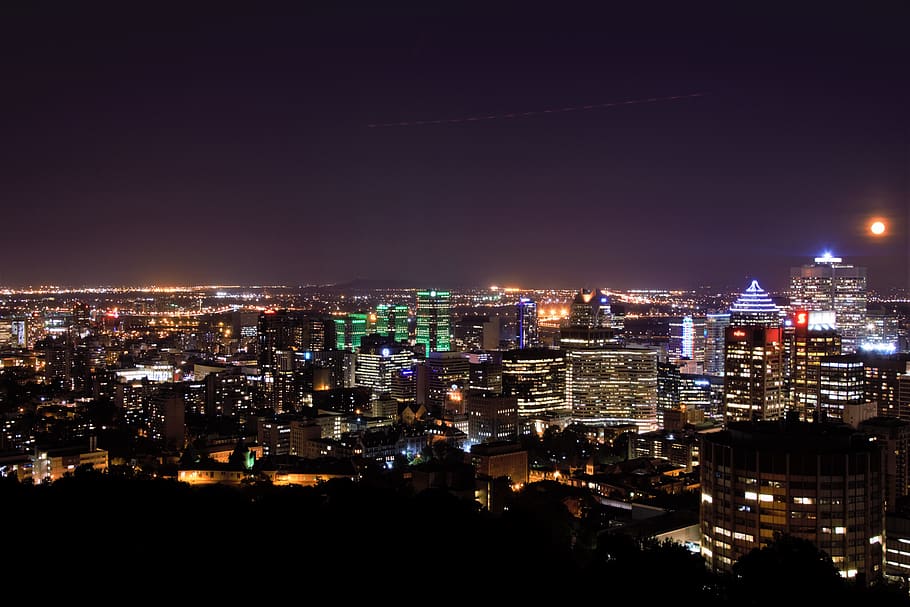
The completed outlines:
<svg viewBox="0 0 910 607">
<path fill-rule="evenodd" d="M 884 566 L 881 442 L 841 424 L 731 422 L 702 434 L 701 553 L 729 572 L 776 533 L 812 542 L 845 577 Z M 770 583 L 770 580 L 769 580 Z"/>
</svg>

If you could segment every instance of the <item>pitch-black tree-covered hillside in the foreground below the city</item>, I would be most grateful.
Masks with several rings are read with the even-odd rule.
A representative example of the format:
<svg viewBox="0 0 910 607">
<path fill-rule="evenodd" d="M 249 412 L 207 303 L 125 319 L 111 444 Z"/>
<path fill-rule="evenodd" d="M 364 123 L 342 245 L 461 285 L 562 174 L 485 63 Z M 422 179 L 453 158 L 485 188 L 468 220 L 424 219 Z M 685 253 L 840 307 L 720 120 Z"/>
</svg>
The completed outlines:
<svg viewBox="0 0 910 607">
<path fill-rule="evenodd" d="M 842 580 L 792 538 L 753 552 L 737 577 L 717 576 L 682 546 L 586 529 L 561 491 L 528 485 L 493 516 L 441 490 L 347 481 L 190 487 L 92 471 L 50 485 L 0 479 L 4 579 L 35 600 L 101 604 L 609 604 L 636 595 L 646 604 L 910 604 L 894 584 Z"/>
</svg>

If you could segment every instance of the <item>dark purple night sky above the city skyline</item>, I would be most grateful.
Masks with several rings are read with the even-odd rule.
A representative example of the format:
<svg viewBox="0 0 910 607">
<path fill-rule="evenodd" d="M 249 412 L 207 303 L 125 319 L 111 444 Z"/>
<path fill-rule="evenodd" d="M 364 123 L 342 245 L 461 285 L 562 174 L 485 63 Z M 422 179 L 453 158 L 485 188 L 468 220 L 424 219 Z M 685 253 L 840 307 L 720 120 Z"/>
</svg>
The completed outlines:
<svg viewBox="0 0 910 607">
<path fill-rule="evenodd" d="M 907 285 L 906 2 L 249 4 L 3 3 L 0 285 Z"/>
</svg>

